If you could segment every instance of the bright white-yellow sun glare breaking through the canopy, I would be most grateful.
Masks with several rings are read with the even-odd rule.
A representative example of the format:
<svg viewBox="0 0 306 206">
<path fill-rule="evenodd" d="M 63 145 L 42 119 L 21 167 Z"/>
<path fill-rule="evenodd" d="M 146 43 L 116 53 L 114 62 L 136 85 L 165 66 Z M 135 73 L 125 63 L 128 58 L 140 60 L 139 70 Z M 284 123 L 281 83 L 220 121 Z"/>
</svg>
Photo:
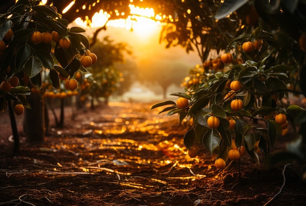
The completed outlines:
<svg viewBox="0 0 306 206">
<path fill-rule="evenodd" d="M 110 20 L 109 14 L 103 10 L 95 13 L 92 21 L 89 23 L 91 28 L 106 26 L 120 27 L 135 31 L 140 36 L 146 36 L 152 33 L 158 25 L 160 25 L 161 17 L 154 14 L 153 8 L 140 8 L 138 6 L 129 5 L 131 15 L 127 19 Z M 119 13 L 116 15 L 120 15 Z M 121 14 L 124 15 L 124 14 Z M 87 21 L 77 18 L 75 22 L 82 27 L 87 27 Z"/>
</svg>

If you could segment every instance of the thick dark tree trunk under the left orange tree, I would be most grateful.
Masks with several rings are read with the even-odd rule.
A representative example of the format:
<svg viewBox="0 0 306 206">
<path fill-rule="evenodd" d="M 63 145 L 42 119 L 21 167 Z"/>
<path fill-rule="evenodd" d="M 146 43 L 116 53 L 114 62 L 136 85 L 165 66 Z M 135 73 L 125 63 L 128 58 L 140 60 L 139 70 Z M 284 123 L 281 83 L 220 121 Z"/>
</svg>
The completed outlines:
<svg viewBox="0 0 306 206">
<path fill-rule="evenodd" d="M 41 94 L 26 97 L 31 108 L 24 111 L 23 131 L 29 143 L 44 142 L 44 103 Z"/>
</svg>

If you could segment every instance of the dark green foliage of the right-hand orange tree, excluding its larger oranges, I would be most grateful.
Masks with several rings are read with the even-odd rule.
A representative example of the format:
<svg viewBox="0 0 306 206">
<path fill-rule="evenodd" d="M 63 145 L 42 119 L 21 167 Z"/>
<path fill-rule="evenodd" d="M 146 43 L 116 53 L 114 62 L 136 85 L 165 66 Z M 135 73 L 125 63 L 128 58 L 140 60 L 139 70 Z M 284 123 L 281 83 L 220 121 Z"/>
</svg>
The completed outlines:
<svg viewBox="0 0 306 206">
<path fill-rule="evenodd" d="M 238 32 L 228 41 L 226 46 L 209 47 L 217 50 L 217 54 L 221 49 L 233 53 L 234 60 L 232 64 L 227 65 L 229 68 L 223 71 L 214 71 L 212 65 L 207 66 L 207 62 L 204 62 L 203 67 L 191 70 L 195 74 L 193 79 L 196 79 L 196 83 L 190 82 L 191 76 L 189 76 L 185 82 L 186 93 L 172 94 L 189 99 L 188 108 L 178 108 L 176 103 L 172 101 L 155 104 L 152 108 L 168 105 L 160 113 L 167 112 L 167 115 L 178 113 L 181 121 L 186 117 L 193 119 L 194 125 L 184 137 L 184 144 L 188 149 L 196 142 L 200 142 L 212 154 L 217 153 L 217 159 L 226 160 L 232 146 L 231 142 L 235 140 L 237 147 L 245 146 L 248 154 L 259 163 L 257 146 L 265 156 L 269 156 L 270 148 L 284 129 L 275 121 L 275 115 L 285 114 L 296 134 L 297 113 L 305 113 L 304 108 L 290 105 L 288 95 L 290 89 L 287 88 L 289 85 L 294 91 L 300 89 L 297 82 L 299 82 L 300 70 L 305 65 L 305 52 L 299 47 L 297 40 L 303 34 L 305 24 L 299 25 L 289 33 L 287 25 L 277 21 L 279 23 L 277 25 L 281 29 L 275 31 L 274 27 L 269 26 L 269 22 L 264 16 L 262 17 L 262 13 L 260 14 L 262 18 L 258 19 L 258 22 L 252 21 L 253 24 L 250 24 L 247 18 L 242 18 L 245 15 L 240 16 L 242 7 L 243 9 L 246 6 L 256 7 L 257 11 L 261 11 L 260 6 L 265 6 L 266 10 L 264 11 L 268 13 L 267 16 L 271 16 L 272 14 L 269 12 L 274 9 L 272 15 L 274 18 L 280 15 L 294 16 L 295 14 L 286 10 L 287 7 L 283 4 L 267 3 L 263 5 L 260 0 L 246 4 L 244 2 L 240 0 L 241 4 L 237 6 L 238 1 L 225 0 L 224 4 L 221 4 L 219 13 L 215 16 L 218 18 L 227 16 L 225 19 L 230 20 L 235 15 L 235 18 L 238 18 L 236 20 L 243 23 L 240 27 L 235 27 Z M 299 4 L 303 4 L 303 2 L 300 1 Z M 240 6 L 242 7 L 239 8 Z M 281 6 L 285 10 L 279 10 Z M 233 8 L 237 11 L 231 10 Z M 295 7 L 294 10 L 299 9 Z M 230 13 L 231 15 L 228 16 Z M 305 21 L 305 19 L 301 19 Z M 217 24 L 214 26 L 215 29 L 222 29 Z M 256 40 L 263 41 L 262 48 L 254 49 L 252 52 L 242 49 L 244 42 L 250 41 L 252 43 Z M 217 44 L 214 43 L 214 45 Z M 239 91 L 233 91 L 228 86 L 230 82 L 235 80 L 242 84 Z M 229 92 L 231 93 L 229 94 Z M 242 109 L 233 110 L 231 108 L 232 99 L 240 99 L 243 102 Z M 207 119 L 210 116 L 216 116 L 220 119 L 220 125 L 217 128 L 210 128 L 207 125 Z M 236 121 L 234 129 L 229 128 L 230 119 Z M 299 116 L 298 123 L 302 122 L 301 119 L 302 116 Z M 300 157 L 303 157 L 304 153 L 301 152 L 301 149 L 304 144 L 297 145 L 299 147 L 296 151 L 300 151 Z M 297 148 L 297 146 L 291 146 L 292 148 Z M 297 155 L 296 152 L 295 155 Z"/>
</svg>

